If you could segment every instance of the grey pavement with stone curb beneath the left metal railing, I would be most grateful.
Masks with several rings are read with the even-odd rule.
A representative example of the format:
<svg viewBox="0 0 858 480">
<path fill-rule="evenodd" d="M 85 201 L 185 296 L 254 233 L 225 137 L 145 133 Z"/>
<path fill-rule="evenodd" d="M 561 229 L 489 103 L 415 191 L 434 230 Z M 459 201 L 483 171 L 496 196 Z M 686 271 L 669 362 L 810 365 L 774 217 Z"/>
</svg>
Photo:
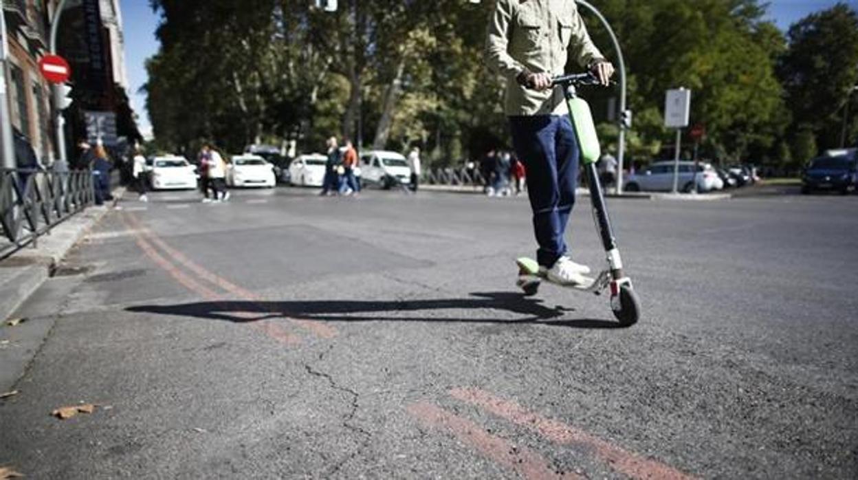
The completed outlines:
<svg viewBox="0 0 858 480">
<path fill-rule="evenodd" d="M 114 200 L 110 205 L 118 204 L 124 195 L 125 187 L 113 191 Z M 51 228 L 50 234 L 39 237 L 39 246 L 32 250 L 19 250 L 9 258 L 0 261 L 0 271 L 18 270 L 9 278 L 0 281 L 0 320 L 10 315 L 27 301 L 42 283 L 51 276 L 69 250 L 107 215 L 110 208 L 94 209 L 87 207 L 82 212 Z M 15 266 L 20 265 L 20 266 Z"/>
</svg>

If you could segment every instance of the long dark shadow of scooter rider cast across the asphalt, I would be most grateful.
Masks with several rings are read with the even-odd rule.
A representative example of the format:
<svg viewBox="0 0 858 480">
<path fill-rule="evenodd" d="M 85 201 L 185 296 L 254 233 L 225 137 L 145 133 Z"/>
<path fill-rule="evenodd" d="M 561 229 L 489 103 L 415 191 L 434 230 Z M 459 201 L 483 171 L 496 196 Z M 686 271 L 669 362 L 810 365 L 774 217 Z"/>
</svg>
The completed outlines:
<svg viewBox="0 0 858 480">
<path fill-rule="evenodd" d="M 396 301 L 197 301 L 177 305 L 143 305 L 125 309 L 196 319 L 251 323 L 267 319 L 305 319 L 328 322 L 434 322 L 447 324 L 541 324 L 583 329 L 623 328 L 605 319 L 563 319 L 574 308 L 547 307 L 539 299 L 510 292 L 477 292 L 468 298 Z M 427 311 L 466 311 L 450 316 L 425 315 Z M 483 318 L 474 311 L 505 311 L 519 318 Z M 404 313 L 404 314 L 403 314 Z"/>
</svg>

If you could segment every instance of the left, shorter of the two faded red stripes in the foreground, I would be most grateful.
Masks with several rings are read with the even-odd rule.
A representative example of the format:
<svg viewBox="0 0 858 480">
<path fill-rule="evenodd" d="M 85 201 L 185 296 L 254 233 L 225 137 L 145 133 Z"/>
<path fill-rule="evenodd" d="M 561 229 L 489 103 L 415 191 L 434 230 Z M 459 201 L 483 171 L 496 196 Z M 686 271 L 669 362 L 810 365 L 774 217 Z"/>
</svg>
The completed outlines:
<svg viewBox="0 0 858 480">
<path fill-rule="evenodd" d="M 420 402 L 408 406 L 408 413 L 429 427 L 446 428 L 462 443 L 476 448 L 486 457 L 516 471 L 525 478 L 580 478 L 573 473 L 557 473 L 548 468 L 548 462 L 539 453 L 528 448 L 515 447 L 511 442 L 492 434 L 474 422 L 456 416 L 437 405 Z"/>
</svg>

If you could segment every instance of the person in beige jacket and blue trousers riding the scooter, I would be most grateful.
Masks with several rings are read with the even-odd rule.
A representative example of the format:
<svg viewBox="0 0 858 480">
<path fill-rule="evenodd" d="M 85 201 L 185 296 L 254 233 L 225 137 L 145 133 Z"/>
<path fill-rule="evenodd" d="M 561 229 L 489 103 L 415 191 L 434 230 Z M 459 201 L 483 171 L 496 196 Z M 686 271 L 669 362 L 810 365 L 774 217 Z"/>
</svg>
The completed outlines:
<svg viewBox="0 0 858 480">
<path fill-rule="evenodd" d="M 507 79 L 505 112 L 518 158 L 527 162 L 540 270 L 554 283 L 586 283 L 589 267 L 568 256 L 564 235 L 580 155 L 563 92 L 569 52 L 604 85 L 613 65 L 595 47 L 572 0 L 497 0 L 489 17 L 486 63 Z"/>
</svg>

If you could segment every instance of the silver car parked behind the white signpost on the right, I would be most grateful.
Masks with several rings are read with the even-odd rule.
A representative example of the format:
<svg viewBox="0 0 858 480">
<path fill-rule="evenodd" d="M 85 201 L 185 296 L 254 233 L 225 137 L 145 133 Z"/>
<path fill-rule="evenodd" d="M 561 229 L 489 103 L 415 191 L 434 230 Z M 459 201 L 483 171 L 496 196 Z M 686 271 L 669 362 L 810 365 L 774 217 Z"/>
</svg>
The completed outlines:
<svg viewBox="0 0 858 480">
<path fill-rule="evenodd" d="M 698 164 L 698 191 L 716 190 L 720 183 L 715 169 L 708 163 Z M 629 175 L 625 191 L 671 191 L 674 189 L 674 161 L 657 161 L 642 172 Z M 694 162 L 680 161 L 680 191 L 694 191 Z"/>
</svg>

